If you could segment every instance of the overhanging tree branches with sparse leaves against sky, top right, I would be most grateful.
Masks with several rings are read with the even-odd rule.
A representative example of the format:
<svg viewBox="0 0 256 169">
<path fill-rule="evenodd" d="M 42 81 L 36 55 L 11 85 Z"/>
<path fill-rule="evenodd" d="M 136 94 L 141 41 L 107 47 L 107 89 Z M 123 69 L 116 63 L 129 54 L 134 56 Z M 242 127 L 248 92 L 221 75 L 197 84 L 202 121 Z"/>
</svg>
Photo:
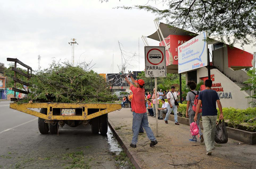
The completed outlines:
<svg viewBox="0 0 256 169">
<path fill-rule="evenodd" d="M 256 0 L 149 1 L 162 2 L 164 9 L 151 5 L 117 8 L 146 10 L 169 25 L 195 33 L 207 31 L 209 36 L 222 42 L 226 39 L 230 45 L 253 43 L 256 46 Z"/>
</svg>

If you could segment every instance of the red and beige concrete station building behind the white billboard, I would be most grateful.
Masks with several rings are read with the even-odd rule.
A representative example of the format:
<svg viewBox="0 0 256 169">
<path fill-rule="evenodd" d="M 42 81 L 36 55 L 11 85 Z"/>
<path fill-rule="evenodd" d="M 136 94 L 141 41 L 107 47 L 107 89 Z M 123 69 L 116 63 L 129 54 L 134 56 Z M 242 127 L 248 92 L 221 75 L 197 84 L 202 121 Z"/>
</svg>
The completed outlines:
<svg viewBox="0 0 256 169">
<path fill-rule="evenodd" d="M 160 36 L 160 31 L 163 34 L 166 45 Z M 159 41 L 159 46 L 166 46 L 167 73 L 178 73 L 177 48 L 194 37 L 190 36 L 190 34 L 192 32 L 160 23 L 158 30 L 147 36 Z M 239 109 L 250 107 L 248 102 L 251 100 L 246 97 L 249 96 L 251 91 L 241 91 L 241 88 L 250 85 L 243 84 L 249 78 L 247 72 L 243 69 L 252 67 L 253 54 L 214 39 L 207 43 L 210 53 L 212 89 L 216 90 L 219 94 L 222 106 Z M 186 81 L 198 83 L 201 80 L 208 79 L 207 67 L 201 67 L 200 61 L 194 66 L 199 68 L 184 72 L 186 74 Z"/>
</svg>

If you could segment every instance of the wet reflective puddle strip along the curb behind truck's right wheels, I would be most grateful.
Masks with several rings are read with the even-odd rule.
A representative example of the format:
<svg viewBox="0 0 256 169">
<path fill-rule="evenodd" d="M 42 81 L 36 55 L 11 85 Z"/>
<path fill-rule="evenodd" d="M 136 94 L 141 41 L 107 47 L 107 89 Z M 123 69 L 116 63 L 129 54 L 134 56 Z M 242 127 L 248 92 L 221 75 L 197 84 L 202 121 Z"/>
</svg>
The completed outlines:
<svg viewBox="0 0 256 169">
<path fill-rule="evenodd" d="M 119 153 L 123 149 L 120 147 L 120 144 L 116 140 L 115 136 L 113 135 L 113 133 L 109 127 L 108 127 L 108 132 L 107 132 L 107 141 L 108 141 L 110 152 L 115 153 L 116 155 L 119 155 Z"/>
</svg>

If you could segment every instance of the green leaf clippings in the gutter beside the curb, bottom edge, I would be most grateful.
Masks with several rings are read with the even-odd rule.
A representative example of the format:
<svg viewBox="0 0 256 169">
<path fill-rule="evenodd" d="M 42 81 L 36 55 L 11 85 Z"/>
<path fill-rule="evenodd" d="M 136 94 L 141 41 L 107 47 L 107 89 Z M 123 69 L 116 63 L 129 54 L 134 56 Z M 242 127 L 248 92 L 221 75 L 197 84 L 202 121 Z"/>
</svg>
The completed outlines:
<svg viewBox="0 0 256 169">
<path fill-rule="evenodd" d="M 116 161 L 117 168 L 128 167 L 129 169 L 135 169 L 134 165 L 131 163 L 124 151 L 121 151 L 119 155 L 115 155 L 114 159 Z"/>
</svg>

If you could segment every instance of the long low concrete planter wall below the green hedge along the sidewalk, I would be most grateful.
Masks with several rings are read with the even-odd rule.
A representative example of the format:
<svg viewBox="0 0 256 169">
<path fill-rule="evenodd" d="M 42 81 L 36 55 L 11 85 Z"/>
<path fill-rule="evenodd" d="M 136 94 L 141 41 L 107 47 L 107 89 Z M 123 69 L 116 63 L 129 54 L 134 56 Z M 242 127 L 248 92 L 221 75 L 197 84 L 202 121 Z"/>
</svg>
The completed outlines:
<svg viewBox="0 0 256 169">
<path fill-rule="evenodd" d="M 163 114 L 163 118 L 165 118 L 165 114 Z M 169 120 L 174 121 L 174 115 L 169 116 Z M 189 118 L 179 117 L 178 116 L 178 122 L 181 124 L 186 124 L 189 126 Z M 200 127 L 203 129 L 202 121 L 200 121 Z M 227 128 L 227 134 L 229 138 L 244 142 L 246 144 L 256 144 L 256 132 L 247 132 L 244 130 L 234 129 L 231 127 Z"/>
</svg>

